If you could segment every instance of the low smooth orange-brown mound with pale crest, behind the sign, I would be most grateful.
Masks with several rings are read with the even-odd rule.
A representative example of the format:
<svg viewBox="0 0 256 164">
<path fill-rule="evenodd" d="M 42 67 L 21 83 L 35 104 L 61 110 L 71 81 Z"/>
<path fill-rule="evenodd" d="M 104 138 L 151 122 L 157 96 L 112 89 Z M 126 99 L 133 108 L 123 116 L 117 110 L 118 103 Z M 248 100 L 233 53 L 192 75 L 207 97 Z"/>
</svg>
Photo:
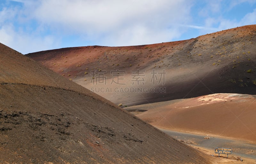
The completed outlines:
<svg viewBox="0 0 256 164">
<path fill-rule="evenodd" d="M 216 93 L 125 108 L 159 128 L 256 143 L 256 97 Z"/>
</svg>

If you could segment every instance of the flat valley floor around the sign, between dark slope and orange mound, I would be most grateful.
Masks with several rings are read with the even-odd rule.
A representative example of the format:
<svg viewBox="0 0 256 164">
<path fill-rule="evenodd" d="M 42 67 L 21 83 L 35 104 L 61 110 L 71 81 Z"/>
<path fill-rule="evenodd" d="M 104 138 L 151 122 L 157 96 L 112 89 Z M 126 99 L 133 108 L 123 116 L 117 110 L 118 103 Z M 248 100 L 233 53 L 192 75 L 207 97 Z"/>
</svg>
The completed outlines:
<svg viewBox="0 0 256 164">
<path fill-rule="evenodd" d="M 158 128 L 162 130 L 166 134 L 170 135 L 171 137 L 179 140 L 180 142 L 184 142 L 185 144 L 195 147 L 197 149 L 201 149 L 207 154 L 214 155 L 218 157 L 218 154 L 214 153 L 214 149 L 216 147 L 225 147 L 225 148 L 232 148 L 233 153 L 228 156 L 227 160 L 226 154 L 220 154 L 220 159 L 217 159 L 217 162 L 220 163 L 241 163 L 241 161 L 237 158 L 240 157 L 243 159 L 245 163 L 256 163 L 256 144 L 242 141 L 242 140 L 235 140 L 230 138 L 220 138 L 216 136 L 208 136 L 208 135 L 198 135 L 198 134 L 191 134 L 179 131 L 172 131 L 166 130 L 162 128 Z M 209 139 L 204 139 L 209 137 Z M 224 160 L 226 159 L 226 160 Z M 237 160 L 238 159 L 238 160 Z M 235 161 L 236 160 L 236 161 Z"/>
</svg>

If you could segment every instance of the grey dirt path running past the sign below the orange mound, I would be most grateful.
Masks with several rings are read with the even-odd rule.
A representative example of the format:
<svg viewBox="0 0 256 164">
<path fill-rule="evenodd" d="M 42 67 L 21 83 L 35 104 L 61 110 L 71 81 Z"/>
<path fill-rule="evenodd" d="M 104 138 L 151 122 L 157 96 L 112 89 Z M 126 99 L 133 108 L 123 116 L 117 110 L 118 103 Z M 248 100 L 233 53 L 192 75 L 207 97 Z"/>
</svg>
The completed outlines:
<svg viewBox="0 0 256 164">
<path fill-rule="evenodd" d="M 254 160 L 256 159 L 256 145 L 249 142 L 227 139 L 227 138 L 220 138 L 215 136 L 203 136 L 203 135 L 197 135 L 197 134 L 190 134 L 190 133 L 184 133 L 184 132 L 178 132 L 178 131 L 172 131 L 172 130 L 165 130 L 161 128 L 158 128 L 158 129 L 164 131 L 166 134 L 172 136 L 173 138 L 186 143 L 187 145 L 192 145 L 195 147 L 202 147 L 207 150 L 212 150 L 212 152 L 210 152 L 212 155 L 218 155 L 214 153 L 214 148 L 226 147 L 226 148 L 232 148 L 233 153 L 231 154 L 231 156 L 251 158 Z M 209 137 L 210 139 L 204 139 L 205 137 Z M 226 156 L 225 154 L 222 154 L 222 155 Z"/>
</svg>

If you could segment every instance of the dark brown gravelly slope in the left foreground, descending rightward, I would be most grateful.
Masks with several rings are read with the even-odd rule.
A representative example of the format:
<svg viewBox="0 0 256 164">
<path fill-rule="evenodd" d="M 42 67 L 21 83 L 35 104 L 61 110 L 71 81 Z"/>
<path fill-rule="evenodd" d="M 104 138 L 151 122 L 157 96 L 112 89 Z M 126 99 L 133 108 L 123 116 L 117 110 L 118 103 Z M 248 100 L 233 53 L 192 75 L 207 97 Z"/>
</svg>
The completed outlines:
<svg viewBox="0 0 256 164">
<path fill-rule="evenodd" d="M 3 44 L 0 59 L 0 163 L 211 162 Z"/>
</svg>

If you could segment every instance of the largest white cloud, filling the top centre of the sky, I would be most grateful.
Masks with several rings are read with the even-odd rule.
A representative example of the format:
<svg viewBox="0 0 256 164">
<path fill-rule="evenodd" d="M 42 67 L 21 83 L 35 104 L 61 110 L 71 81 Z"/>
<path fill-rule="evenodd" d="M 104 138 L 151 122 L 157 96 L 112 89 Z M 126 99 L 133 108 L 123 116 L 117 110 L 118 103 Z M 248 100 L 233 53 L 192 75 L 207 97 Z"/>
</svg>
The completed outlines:
<svg viewBox="0 0 256 164">
<path fill-rule="evenodd" d="M 45 0 L 33 15 L 43 24 L 66 34 L 81 34 L 85 40 L 103 38 L 100 42 L 107 45 L 135 45 L 179 36 L 182 31 L 169 31 L 177 23 L 190 22 L 190 6 L 185 0 Z"/>
</svg>

